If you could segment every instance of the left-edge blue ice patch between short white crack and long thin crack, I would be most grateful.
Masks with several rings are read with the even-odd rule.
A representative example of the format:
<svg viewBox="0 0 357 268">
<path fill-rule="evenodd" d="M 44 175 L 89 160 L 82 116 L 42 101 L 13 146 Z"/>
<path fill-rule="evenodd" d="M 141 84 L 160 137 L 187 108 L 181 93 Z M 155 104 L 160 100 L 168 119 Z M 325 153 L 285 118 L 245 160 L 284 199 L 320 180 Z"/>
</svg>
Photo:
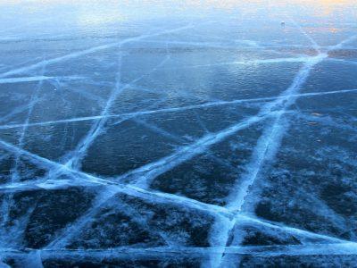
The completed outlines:
<svg viewBox="0 0 357 268">
<path fill-rule="evenodd" d="M 100 113 L 104 106 L 104 99 L 109 95 L 112 86 L 83 85 L 83 80 L 79 77 L 43 80 L 41 90 L 34 99 L 29 123 L 93 116 Z M 24 101 L 34 94 L 36 83 L 38 81 L 0 85 L 0 88 L 4 88 L 0 94 L 7 99 L 0 117 L 2 123 L 23 123 L 26 120 L 29 101 L 27 103 Z M 13 90 L 16 90 L 16 93 L 13 93 Z"/>
</svg>

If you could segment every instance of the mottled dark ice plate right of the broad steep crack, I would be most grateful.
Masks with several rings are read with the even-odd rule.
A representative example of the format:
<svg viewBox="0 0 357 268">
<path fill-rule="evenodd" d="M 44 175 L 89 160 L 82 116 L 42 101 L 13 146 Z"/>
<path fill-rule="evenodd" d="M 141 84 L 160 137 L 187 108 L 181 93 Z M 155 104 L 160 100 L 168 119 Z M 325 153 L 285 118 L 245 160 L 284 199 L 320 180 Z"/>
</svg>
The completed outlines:
<svg viewBox="0 0 357 268">
<path fill-rule="evenodd" d="M 291 120 L 294 124 L 275 163 L 265 169 L 265 180 L 253 190 L 245 210 L 299 229 L 355 240 L 357 166 L 350 160 L 355 141 L 349 130 Z"/>
</svg>

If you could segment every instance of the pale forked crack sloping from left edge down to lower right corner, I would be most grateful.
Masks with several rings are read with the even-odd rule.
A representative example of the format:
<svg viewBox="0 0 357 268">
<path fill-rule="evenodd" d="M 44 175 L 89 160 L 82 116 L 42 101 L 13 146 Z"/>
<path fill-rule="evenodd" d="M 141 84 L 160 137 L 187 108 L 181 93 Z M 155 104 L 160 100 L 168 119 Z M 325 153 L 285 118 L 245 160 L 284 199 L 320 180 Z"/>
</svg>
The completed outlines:
<svg viewBox="0 0 357 268">
<path fill-rule="evenodd" d="M 94 205 L 96 205 L 95 209 L 93 209 L 93 212 L 91 211 L 92 209 L 89 209 L 88 213 L 95 214 L 95 212 L 98 209 L 100 209 L 101 207 L 100 204 L 104 204 L 105 202 L 104 199 L 109 199 L 113 197 L 113 195 L 120 193 L 120 194 L 128 195 L 130 197 L 137 197 L 146 200 L 148 202 L 152 202 L 152 203 L 154 202 L 155 204 L 171 204 L 171 205 L 185 206 L 187 208 L 199 210 L 207 214 L 212 214 L 212 215 L 220 214 L 224 217 L 227 217 L 228 219 L 233 219 L 236 217 L 236 215 L 233 212 L 229 211 L 226 207 L 220 205 L 206 204 L 188 197 L 180 197 L 168 193 L 145 190 L 142 188 L 137 188 L 132 185 L 121 185 L 119 183 L 112 182 L 111 180 L 104 180 L 102 178 L 89 175 L 85 172 L 78 172 L 78 171 L 71 170 L 65 167 L 64 165 L 62 165 L 61 163 L 55 163 L 41 156 L 31 154 L 26 150 L 23 150 L 18 147 L 14 147 L 1 140 L 0 140 L 0 145 L 11 152 L 21 150 L 21 155 L 28 157 L 29 160 L 33 161 L 34 163 L 37 163 L 38 165 L 43 165 L 44 168 L 52 169 L 54 167 L 62 166 L 64 169 L 67 169 L 69 174 L 73 176 L 73 180 L 53 180 L 53 181 L 47 180 L 45 182 L 29 180 L 29 181 L 22 181 L 13 184 L 2 185 L 0 187 L 0 190 L 2 191 L 17 192 L 17 191 L 30 191 L 30 190 L 41 190 L 41 189 L 54 190 L 56 188 L 100 186 L 100 187 L 105 187 L 106 189 L 104 190 L 103 195 L 95 198 L 96 200 L 94 201 Z M 340 243 L 348 242 L 343 239 L 336 239 L 326 235 L 313 233 L 307 230 L 299 230 L 296 228 L 285 226 L 281 223 L 267 222 L 265 220 L 252 218 L 250 216 L 245 216 L 242 214 L 237 215 L 237 217 L 241 221 L 250 222 L 251 224 L 254 225 L 258 224 L 265 227 L 284 230 L 288 233 L 292 233 L 293 235 L 296 234 L 307 238 L 326 239 L 327 241 L 330 242 L 340 242 Z M 90 217 L 84 215 L 81 217 L 81 220 L 79 220 L 78 222 L 81 222 L 81 224 L 85 225 L 87 224 L 85 220 L 87 222 L 91 221 Z M 73 226 L 75 226 L 75 224 L 71 224 L 69 228 L 72 229 Z M 76 231 L 79 231 L 79 228 L 77 228 Z"/>
</svg>

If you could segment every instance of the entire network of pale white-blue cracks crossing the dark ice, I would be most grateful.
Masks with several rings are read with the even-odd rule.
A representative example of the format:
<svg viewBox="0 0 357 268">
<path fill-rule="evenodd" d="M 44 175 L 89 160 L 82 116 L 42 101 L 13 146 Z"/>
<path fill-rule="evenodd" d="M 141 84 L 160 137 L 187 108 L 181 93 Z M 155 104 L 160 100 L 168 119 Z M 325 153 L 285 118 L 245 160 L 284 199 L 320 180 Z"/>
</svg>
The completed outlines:
<svg viewBox="0 0 357 268">
<path fill-rule="evenodd" d="M 311 40 L 312 45 L 315 50 L 319 52 L 317 56 L 313 57 L 302 57 L 302 58 L 280 58 L 262 61 L 249 61 L 249 62 L 234 62 L 234 63 L 217 63 L 217 64 L 245 64 L 245 63 L 279 63 L 279 62 L 303 62 L 303 68 L 296 75 L 295 80 L 293 80 L 292 85 L 286 89 L 280 96 L 274 97 L 263 97 L 255 99 L 241 99 L 231 102 L 211 102 L 202 105 L 189 105 L 185 107 L 178 108 L 166 108 L 158 109 L 152 111 L 140 111 L 135 113 L 121 113 L 121 114 L 110 114 L 110 108 L 112 102 L 120 92 L 127 86 L 120 86 L 117 83 L 117 87 L 113 89 L 112 95 L 106 102 L 104 106 L 104 111 L 98 116 L 73 118 L 69 120 L 60 121 L 45 121 L 45 122 L 35 122 L 29 123 L 28 120 L 24 124 L 8 124 L 0 126 L 0 129 L 12 129 L 12 128 L 23 128 L 22 133 L 30 126 L 42 126 L 54 123 L 70 122 L 70 121 L 95 121 L 92 129 L 88 132 L 86 138 L 79 142 L 79 146 L 76 151 L 70 155 L 70 159 L 66 163 L 56 163 L 48 160 L 39 155 L 32 154 L 24 149 L 13 146 L 7 142 L 0 140 L 0 146 L 4 147 L 6 150 L 12 152 L 15 155 L 21 155 L 21 157 L 29 158 L 33 163 L 38 166 L 44 166 L 48 171 L 54 172 L 50 173 L 50 176 L 46 180 L 32 180 L 32 181 L 17 181 L 13 180 L 12 183 L 4 184 L 0 186 L 0 190 L 9 191 L 10 193 L 18 191 L 28 191 L 37 189 L 55 189 L 55 188 L 68 188 L 68 187 L 95 187 L 100 186 L 104 188 L 101 190 L 99 195 L 95 198 L 93 206 L 83 214 L 79 219 L 73 224 L 64 228 L 59 236 L 57 236 L 45 249 L 33 250 L 29 249 L 26 251 L 17 251 L 11 249 L 0 249 L 0 258 L 12 257 L 14 255 L 18 256 L 36 256 L 41 263 L 42 259 L 63 259 L 63 258 L 82 258 L 87 259 L 102 259 L 104 257 L 109 258 L 127 258 L 128 255 L 135 256 L 137 258 L 159 258 L 170 255 L 189 255 L 189 256 L 203 256 L 211 257 L 212 267 L 222 265 L 223 255 L 258 255 L 258 256 L 278 256 L 278 255 L 356 255 L 357 254 L 357 244 L 354 242 L 348 242 L 343 239 L 336 239 L 330 236 L 317 234 L 307 230 L 300 230 L 293 227 L 285 226 L 281 223 L 267 222 L 262 219 L 253 218 L 242 213 L 243 207 L 245 205 L 245 200 L 250 194 L 250 188 L 253 187 L 255 180 L 257 180 L 262 173 L 262 168 L 274 160 L 277 154 L 278 147 L 280 147 L 281 140 L 289 127 L 289 122 L 285 117 L 288 113 L 287 109 L 295 103 L 295 99 L 301 96 L 320 96 L 327 94 L 341 94 L 347 92 L 353 92 L 357 89 L 346 89 L 341 91 L 328 91 L 328 92 L 316 92 L 316 93 L 305 93 L 299 94 L 299 90 L 302 88 L 303 83 L 307 80 L 310 72 L 316 64 L 322 62 L 328 57 L 328 54 L 323 54 L 320 52 L 321 47 L 316 44 L 316 42 L 310 38 L 309 35 L 304 33 L 303 29 L 296 24 L 297 27 L 303 32 L 303 34 Z M 21 73 L 26 73 L 28 71 L 36 70 L 37 68 L 44 67 L 48 64 L 61 63 L 62 61 L 67 61 L 72 58 L 76 58 L 81 55 L 91 54 L 96 51 L 107 49 L 110 47 L 121 46 L 127 42 L 141 40 L 143 38 L 159 36 L 162 34 L 167 34 L 183 29 L 192 28 L 192 25 L 187 25 L 177 29 L 164 30 L 154 34 L 147 34 L 139 36 L 136 38 L 128 38 L 120 42 L 115 42 L 107 44 L 104 46 L 95 46 L 86 50 L 75 52 L 72 54 L 67 54 L 54 59 L 42 61 L 29 66 L 14 69 L 12 71 L 6 71 L 0 74 L 0 83 L 14 83 L 14 82 L 29 82 L 29 81 L 42 81 L 51 80 L 52 78 L 47 78 L 45 76 L 38 77 L 25 77 L 25 78 L 7 78 L 11 75 L 18 75 Z M 348 42 L 355 40 L 357 36 L 346 39 L 345 41 L 332 46 L 329 51 L 340 49 L 345 46 Z M 166 60 L 162 61 L 157 67 L 160 67 Z M 216 64 L 208 65 L 197 65 L 200 66 L 212 66 Z M 120 76 L 120 71 L 118 72 Z M 137 78 L 133 82 L 137 82 L 142 77 Z M 120 81 L 120 80 L 119 80 Z M 83 155 L 86 154 L 87 148 L 93 143 L 95 138 L 104 130 L 104 125 L 109 118 L 119 117 L 121 120 L 126 120 L 128 118 L 137 117 L 140 115 L 154 114 L 154 113 L 170 113 L 177 111 L 185 111 L 189 109 L 199 109 L 210 106 L 219 105 L 234 105 L 245 102 L 254 101 L 271 101 L 266 105 L 262 105 L 261 112 L 245 118 L 243 121 L 237 122 L 231 125 L 227 129 L 220 130 L 216 133 L 207 132 L 203 138 L 198 138 L 192 144 L 184 147 L 179 147 L 179 149 L 172 155 L 167 155 L 155 161 L 153 163 L 145 164 L 144 166 L 127 172 L 114 180 L 107 180 L 97 176 L 87 174 L 85 172 L 79 171 L 79 164 Z M 26 107 L 31 113 L 31 105 Z M 180 163 L 184 163 L 189 159 L 192 159 L 195 155 L 200 155 L 209 149 L 214 144 L 234 135 L 239 130 L 244 130 L 251 125 L 261 122 L 261 121 L 272 121 L 272 124 L 265 128 L 262 137 L 259 138 L 256 147 L 253 150 L 252 161 L 246 167 L 246 173 L 243 176 L 243 184 L 240 184 L 232 191 L 231 195 L 228 197 L 228 205 L 210 205 L 203 202 L 196 201 L 187 197 L 179 197 L 177 195 L 171 195 L 162 192 L 155 192 L 148 190 L 151 181 L 160 176 L 162 173 L 170 171 L 174 167 L 178 166 Z M 148 125 L 145 121 L 139 121 L 138 123 L 144 124 L 148 128 L 154 128 L 153 125 Z M 154 129 L 153 129 L 154 130 Z M 170 132 L 162 132 L 162 130 L 156 128 L 155 131 L 161 132 L 162 135 L 171 135 Z M 176 137 L 171 137 L 176 138 Z M 17 158 L 18 161 L 20 156 Z M 53 180 L 57 172 L 63 172 L 71 177 L 71 180 Z M 15 174 L 15 173 L 14 173 Z M 50 178 L 50 179 L 48 179 Z M 47 180 L 48 179 L 48 180 Z M 121 184 L 120 181 L 127 181 L 133 184 Z M 101 209 L 108 200 L 114 197 L 116 194 L 129 195 L 131 197 L 138 197 L 143 200 L 153 202 L 154 204 L 172 204 L 172 205 L 183 205 L 191 209 L 197 209 L 208 214 L 213 214 L 217 218 L 224 219 L 221 222 L 217 220 L 217 224 L 212 229 L 212 247 L 153 247 L 153 248 L 132 248 L 132 247 L 120 247 L 112 249 L 101 249 L 101 250 L 91 250 L 91 249 L 79 249 L 79 250 L 66 250 L 62 247 L 66 247 L 69 241 L 82 230 L 88 222 L 93 220 L 95 214 Z M 333 242 L 333 244 L 319 244 L 316 245 L 286 245 L 286 246 L 274 246 L 274 247 L 241 247 L 241 246 L 229 246 L 228 239 L 231 230 L 235 228 L 237 222 L 245 222 L 251 225 L 263 226 L 265 228 L 278 229 L 286 231 L 296 237 L 301 237 L 305 239 L 322 239 L 324 241 Z M 243 238 L 242 238 L 243 239 Z M 1 264 L 1 263 L 0 263 Z"/>
</svg>

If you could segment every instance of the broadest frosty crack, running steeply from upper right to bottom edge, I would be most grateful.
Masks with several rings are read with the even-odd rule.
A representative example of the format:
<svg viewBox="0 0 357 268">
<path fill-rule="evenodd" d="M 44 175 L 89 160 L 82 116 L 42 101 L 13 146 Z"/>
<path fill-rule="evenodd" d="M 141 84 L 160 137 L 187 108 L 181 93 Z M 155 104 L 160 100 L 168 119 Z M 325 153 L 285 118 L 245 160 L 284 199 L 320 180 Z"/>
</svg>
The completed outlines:
<svg viewBox="0 0 357 268">
<path fill-rule="evenodd" d="M 350 42 L 354 40 L 354 38 L 348 38 L 346 40 Z M 346 40 L 336 46 L 333 46 L 329 51 L 341 47 L 341 44 L 347 43 Z M 282 93 L 282 96 L 286 97 L 285 102 L 264 105 L 262 110 L 278 110 L 280 112 L 286 111 L 288 107 L 295 103 L 296 96 L 294 95 L 296 95 L 302 88 L 313 67 L 321 63 L 326 58 L 328 58 L 328 54 L 322 53 L 312 57 L 311 60 L 305 63 L 301 70 L 297 73 L 291 86 Z M 228 197 L 228 205 L 226 205 L 226 207 L 229 210 L 235 211 L 236 214 L 241 213 L 243 206 L 245 205 L 245 199 L 250 193 L 250 188 L 253 187 L 255 180 L 257 180 L 257 178 L 261 175 L 263 166 L 274 160 L 278 147 L 280 147 L 281 140 L 285 135 L 288 126 L 289 123 L 284 117 L 284 113 L 277 113 L 272 126 L 268 126 L 262 134 L 262 137 L 258 139 L 257 145 L 253 150 L 252 160 L 247 164 L 246 173 L 243 175 L 243 178 L 241 178 L 243 182 L 237 184 L 236 188 L 234 188 L 230 194 L 230 197 Z M 224 222 L 218 219 L 212 228 L 212 247 L 226 247 L 230 233 L 235 228 L 237 222 L 237 217 L 233 220 Z M 240 238 L 240 240 L 243 239 L 243 237 Z M 239 240 L 239 238 L 237 240 Z M 219 254 L 213 254 L 210 260 L 211 267 L 220 267 L 222 265 L 222 261 L 224 261 L 224 254 L 224 250 Z"/>
</svg>

